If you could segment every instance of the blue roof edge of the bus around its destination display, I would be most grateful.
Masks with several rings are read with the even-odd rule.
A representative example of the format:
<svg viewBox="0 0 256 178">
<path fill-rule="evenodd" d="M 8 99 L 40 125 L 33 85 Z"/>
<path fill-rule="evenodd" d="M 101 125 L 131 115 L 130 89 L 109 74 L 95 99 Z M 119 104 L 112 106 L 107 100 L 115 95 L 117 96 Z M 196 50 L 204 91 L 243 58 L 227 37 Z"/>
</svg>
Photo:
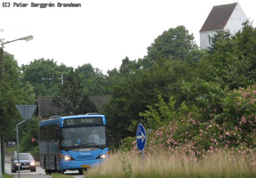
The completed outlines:
<svg viewBox="0 0 256 178">
<path fill-rule="evenodd" d="M 106 124 L 106 119 L 104 115 L 74 115 L 74 116 L 61 116 L 59 118 L 42 120 L 39 122 L 39 127 L 49 126 L 53 124 L 59 124 L 60 127 L 63 127 L 64 119 L 73 119 L 73 118 L 102 118 L 103 124 Z"/>
</svg>

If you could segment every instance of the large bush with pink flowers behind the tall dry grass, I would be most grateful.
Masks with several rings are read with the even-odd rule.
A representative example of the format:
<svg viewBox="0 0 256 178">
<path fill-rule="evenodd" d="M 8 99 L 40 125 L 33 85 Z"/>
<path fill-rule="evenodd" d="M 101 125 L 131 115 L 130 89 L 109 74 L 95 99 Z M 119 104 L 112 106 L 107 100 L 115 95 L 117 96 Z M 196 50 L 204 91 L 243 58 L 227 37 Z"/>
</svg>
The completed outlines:
<svg viewBox="0 0 256 178">
<path fill-rule="evenodd" d="M 196 104 L 187 106 L 184 102 L 178 109 L 174 104 L 172 97 L 166 103 L 159 96 L 159 103 L 140 113 L 146 128 L 154 129 L 147 135 L 146 152 L 168 150 L 204 157 L 224 149 L 255 159 L 255 85 L 223 94 L 218 107 L 213 108 L 208 117 Z M 132 151 L 137 151 L 136 146 Z"/>
</svg>

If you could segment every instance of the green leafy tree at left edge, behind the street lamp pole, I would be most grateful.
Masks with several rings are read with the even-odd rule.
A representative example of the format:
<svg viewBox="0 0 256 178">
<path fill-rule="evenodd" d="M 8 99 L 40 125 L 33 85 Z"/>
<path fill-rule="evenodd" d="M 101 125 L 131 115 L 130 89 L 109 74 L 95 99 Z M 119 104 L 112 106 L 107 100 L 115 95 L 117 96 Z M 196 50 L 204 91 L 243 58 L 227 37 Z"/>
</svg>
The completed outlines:
<svg viewBox="0 0 256 178">
<path fill-rule="evenodd" d="M 17 104 L 34 104 L 35 95 L 28 82 L 22 83 L 17 61 L 14 56 L 4 52 L 4 76 L 0 80 L 0 132 L 8 136 L 19 122 L 21 116 Z"/>
</svg>

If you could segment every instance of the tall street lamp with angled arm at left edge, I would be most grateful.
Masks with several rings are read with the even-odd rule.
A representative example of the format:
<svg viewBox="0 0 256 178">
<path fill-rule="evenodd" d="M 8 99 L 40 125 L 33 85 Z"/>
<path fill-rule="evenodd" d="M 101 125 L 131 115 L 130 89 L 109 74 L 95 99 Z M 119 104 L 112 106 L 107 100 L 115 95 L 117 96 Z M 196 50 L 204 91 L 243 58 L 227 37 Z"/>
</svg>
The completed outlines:
<svg viewBox="0 0 256 178">
<path fill-rule="evenodd" d="M 1 63 L 2 63 L 2 65 L 1 65 L 2 66 L 1 79 L 2 80 L 4 78 L 4 50 L 3 50 L 3 46 L 4 46 L 4 44 L 11 43 L 13 41 L 18 41 L 18 40 L 30 41 L 30 40 L 33 40 L 33 36 L 29 35 L 29 36 L 25 36 L 25 37 L 22 37 L 22 38 L 19 38 L 19 39 L 16 39 L 16 40 L 7 41 L 5 43 L 2 43 L 2 46 L 1 46 Z M 1 136 L 1 132 L 0 132 L 0 136 Z M 1 137 L 0 137 L 0 148 L 1 148 Z M 2 166 L 2 155 L 1 155 L 1 150 L 2 150 L 3 151 L 3 156 L 4 156 L 4 143 L 2 145 L 2 148 L 3 149 L 0 149 L 0 178 L 2 178 L 2 167 L 3 167 L 3 171 L 4 171 L 4 163 L 3 163 L 3 166 Z"/>
</svg>

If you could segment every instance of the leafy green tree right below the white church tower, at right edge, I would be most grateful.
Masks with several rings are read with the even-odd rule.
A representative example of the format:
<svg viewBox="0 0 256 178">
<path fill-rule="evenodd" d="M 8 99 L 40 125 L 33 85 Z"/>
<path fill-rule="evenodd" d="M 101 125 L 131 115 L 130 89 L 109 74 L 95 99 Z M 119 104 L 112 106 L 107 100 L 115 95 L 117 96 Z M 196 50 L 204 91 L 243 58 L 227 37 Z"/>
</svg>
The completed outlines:
<svg viewBox="0 0 256 178">
<path fill-rule="evenodd" d="M 230 89 L 246 87 L 255 83 L 256 29 L 249 21 L 242 31 L 231 36 L 219 31 L 212 39 L 212 47 L 202 60 L 202 74 L 207 81 L 216 81 Z M 206 71 L 206 70 L 202 70 Z"/>
</svg>

